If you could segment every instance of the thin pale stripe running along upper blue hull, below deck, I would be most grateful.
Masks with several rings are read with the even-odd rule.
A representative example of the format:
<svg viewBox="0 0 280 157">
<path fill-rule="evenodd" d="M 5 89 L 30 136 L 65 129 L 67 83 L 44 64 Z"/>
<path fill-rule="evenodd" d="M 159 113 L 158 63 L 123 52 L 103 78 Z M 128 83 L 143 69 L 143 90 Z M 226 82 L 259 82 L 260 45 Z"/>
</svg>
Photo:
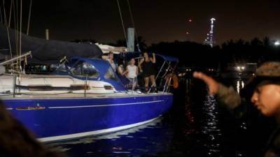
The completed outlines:
<svg viewBox="0 0 280 157">
<path fill-rule="evenodd" d="M 57 107 L 48 107 L 49 109 L 59 109 L 59 108 L 83 108 L 83 107 L 106 107 L 106 106 L 119 106 L 119 105 L 136 105 L 136 104 L 145 104 L 145 103 L 160 103 L 164 100 L 156 100 L 156 101 L 146 101 L 141 103 L 118 103 L 112 105 L 85 105 L 85 106 L 57 106 Z"/>
</svg>

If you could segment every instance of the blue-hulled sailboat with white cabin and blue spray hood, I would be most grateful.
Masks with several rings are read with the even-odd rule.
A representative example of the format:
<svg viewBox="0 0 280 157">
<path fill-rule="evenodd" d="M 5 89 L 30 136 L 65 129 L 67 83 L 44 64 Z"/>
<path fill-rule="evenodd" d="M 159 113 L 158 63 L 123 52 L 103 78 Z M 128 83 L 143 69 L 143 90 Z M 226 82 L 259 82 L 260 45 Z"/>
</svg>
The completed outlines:
<svg viewBox="0 0 280 157">
<path fill-rule="evenodd" d="M 8 29 L 8 32 L 0 24 L 3 34 L 0 49 L 15 45 L 16 31 Z M 127 89 L 109 62 L 100 59 L 102 51 L 97 45 L 43 40 L 22 34 L 22 52 L 29 51 L 31 62 L 67 59 L 52 75 L 26 75 L 8 69 L 0 75 L 0 98 L 6 110 L 42 142 L 132 128 L 158 119 L 172 107 L 171 80 L 165 81 L 158 93 Z M 178 59 L 157 56 L 164 60 L 157 77 L 164 80 L 167 73 L 174 73 L 172 63 L 176 66 Z"/>
</svg>

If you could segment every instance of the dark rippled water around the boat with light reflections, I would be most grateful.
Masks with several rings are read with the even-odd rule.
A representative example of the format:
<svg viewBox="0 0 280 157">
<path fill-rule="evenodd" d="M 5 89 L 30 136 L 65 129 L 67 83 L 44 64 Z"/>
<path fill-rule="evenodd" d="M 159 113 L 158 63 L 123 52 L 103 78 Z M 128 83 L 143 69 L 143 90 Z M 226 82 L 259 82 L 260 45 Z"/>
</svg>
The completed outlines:
<svg viewBox="0 0 280 157">
<path fill-rule="evenodd" d="M 223 80 L 244 87 L 242 80 Z M 248 116 L 235 114 L 208 96 L 199 80 L 183 79 L 174 91 L 174 105 L 149 124 L 108 135 L 48 144 L 70 157 L 85 156 L 261 156 L 274 128 L 253 107 Z"/>
</svg>

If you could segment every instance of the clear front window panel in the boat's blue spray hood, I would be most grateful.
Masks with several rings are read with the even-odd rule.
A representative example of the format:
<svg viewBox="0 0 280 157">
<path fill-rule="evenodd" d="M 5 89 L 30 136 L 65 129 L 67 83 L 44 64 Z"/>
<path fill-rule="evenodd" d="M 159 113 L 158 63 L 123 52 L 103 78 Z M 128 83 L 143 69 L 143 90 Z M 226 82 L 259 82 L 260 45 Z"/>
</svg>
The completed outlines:
<svg viewBox="0 0 280 157">
<path fill-rule="evenodd" d="M 76 66 L 71 68 L 71 75 L 76 75 L 78 77 L 88 77 L 88 78 L 98 78 L 100 73 L 92 64 L 79 61 Z"/>
</svg>

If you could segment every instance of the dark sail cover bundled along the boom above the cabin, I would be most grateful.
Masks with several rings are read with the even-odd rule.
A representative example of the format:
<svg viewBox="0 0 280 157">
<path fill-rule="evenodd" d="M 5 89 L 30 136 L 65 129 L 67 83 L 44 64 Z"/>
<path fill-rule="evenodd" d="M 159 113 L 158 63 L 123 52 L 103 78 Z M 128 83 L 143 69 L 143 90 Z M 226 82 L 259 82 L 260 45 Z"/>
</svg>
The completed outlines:
<svg viewBox="0 0 280 157">
<path fill-rule="evenodd" d="M 17 54 L 15 35 L 19 32 L 13 29 L 6 29 L 0 23 L 0 53 L 10 57 L 10 47 L 13 55 Z M 10 46 L 8 43 L 8 34 L 10 37 Z M 31 62 L 35 63 L 55 63 L 66 57 L 70 59 L 74 56 L 100 58 L 102 50 L 97 45 L 88 45 L 83 43 L 72 43 L 58 40 L 45 40 L 34 38 L 22 33 L 22 54 L 31 51 Z"/>
</svg>

